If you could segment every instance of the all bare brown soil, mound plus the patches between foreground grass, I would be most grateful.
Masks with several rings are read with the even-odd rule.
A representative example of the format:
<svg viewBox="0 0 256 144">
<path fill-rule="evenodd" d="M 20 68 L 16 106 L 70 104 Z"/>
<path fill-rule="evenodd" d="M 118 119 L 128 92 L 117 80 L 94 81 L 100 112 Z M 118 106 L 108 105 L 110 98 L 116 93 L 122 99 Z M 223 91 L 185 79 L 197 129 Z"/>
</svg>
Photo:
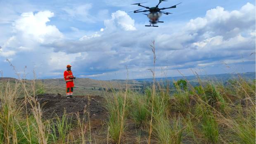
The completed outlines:
<svg viewBox="0 0 256 144">
<path fill-rule="evenodd" d="M 89 111 L 90 114 L 90 127 L 91 127 L 91 139 L 92 143 L 96 144 L 114 144 L 111 139 L 107 139 L 108 121 L 107 110 L 104 107 L 105 99 L 102 96 L 73 96 L 73 98 L 66 98 L 60 94 L 43 94 L 36 96 L 43 111 L 43 119 L 55 121 L 56 117 L 60 118 L 63 116 L 64 111 L 68 114 L 69 118 L 72 118 L 73 128 L 71 133 L 77 135 L 76 121 L 78 113 L 80 118 L 84 115 L 84 110 Z M 29 107 L 29 105 L 27 104 Z M 29 108 L 28 108 L 29 109 Z M 86 121 L 88 116 L 86 117 Z M 87 121 L 88 124 L 88 121 Z M 88 135 L 89 130 L 86 132 Z M 140 135 L 140 140 L 138 140 Z M 133 121 L 129 118 L 127 120 L 127 126 L 125 133 L 122 138 L 122 144 L 146 144 L 147 143 L 147 132 L 139 130 L 135 127 Z M 107 142 L 108 140 L 108 142 Z M 152 139 L 152 144 L 154 144 Z"/>
</svg>

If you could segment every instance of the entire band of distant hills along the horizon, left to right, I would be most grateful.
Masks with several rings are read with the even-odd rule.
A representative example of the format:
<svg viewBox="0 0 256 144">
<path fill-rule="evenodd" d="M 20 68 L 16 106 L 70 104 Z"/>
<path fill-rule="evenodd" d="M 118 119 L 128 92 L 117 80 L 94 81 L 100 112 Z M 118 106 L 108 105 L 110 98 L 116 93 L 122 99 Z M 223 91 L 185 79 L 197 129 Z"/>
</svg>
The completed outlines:
<svg viewBox="0 0 256 144">
<path fill-rule="evenodd" d="M 243 74 L 211 74 L 211 75 L 200 75 L 199 78 L 201 81 L 207 80 L 218 80 L 218 81 L 228 81 L 229 79 L 234 79 L 242 76 L 244 79 L 255 79 L 255 72 L 246 72 Z M 156 81 L 165 81 L 166 79 L 170 80 L 171 84 L 172 81 L 179 80 L 179 79 L 187 79 L 190 81 L 190 84 L 193 86 L 198 85 L 198 79 L 196 76 L 187 76 L 187 77 L 164 77 L 164 78 L 156 78 Z M 10 77 L 0 77 L 0 88 L 2 86 L 2 82 L 9 81 L 12 84 L 15 84 L 14 78 Z M 66 83 L 64 79 L 38 79 L 36 80 L 37 83 L 40 85 L 43 84 L 46 93 L 60 93 L 65 95 L 66 90 Z M 26 80 L 28 83 L 26 86 L 28 90 L 31 89 L 31 80 Z M 145 86 L 149 86 L 152 82 L 152 78 L 147 79 L 130 79 L 128 80 L 128 87 L 134 90 L 139 90 L 145 88 Z M 77 78 L 75 79 L 75 93 L 74 95 L 104 95 L 105 91 L 111 91 L 111 89 L 122 90 L 126 88 L 126 80 L 125 79 L 114 79 L 109 81 L 103 80 L 95 80 L 95 79 L 88 79 L 88 78 Z"/>
</svg>

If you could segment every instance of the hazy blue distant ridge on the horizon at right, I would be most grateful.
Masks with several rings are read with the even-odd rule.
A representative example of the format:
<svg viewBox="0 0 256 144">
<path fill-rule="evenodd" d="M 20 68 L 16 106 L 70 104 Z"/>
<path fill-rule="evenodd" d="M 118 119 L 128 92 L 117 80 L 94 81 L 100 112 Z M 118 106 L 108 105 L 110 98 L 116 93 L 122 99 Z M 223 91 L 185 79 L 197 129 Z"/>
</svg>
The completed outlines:
<svg viewBox="0 0 256 144">
<path fill-rule="evenodd" d="M 255 79 L 255 72 L 245 72 L 242 74 L 210 74 L 210 75 L 199 75 L 201 80 L 218 80 L 218 81 L 227 81 L 229 79 L 236 79 L 239 76 L 243 77 L 244 79 Z M 187 79 L 188 81 L 197 81 L 197 76 L 185 76 L 185 77 L 163 77 L 163 78 L 156 78 L 156 81 L 161 80 L 174 80 L 177 81 L 179 79 Z M 147 79 L 134 79 L 136 81 L 153 81 L 152 78 Z"/>
</svg>

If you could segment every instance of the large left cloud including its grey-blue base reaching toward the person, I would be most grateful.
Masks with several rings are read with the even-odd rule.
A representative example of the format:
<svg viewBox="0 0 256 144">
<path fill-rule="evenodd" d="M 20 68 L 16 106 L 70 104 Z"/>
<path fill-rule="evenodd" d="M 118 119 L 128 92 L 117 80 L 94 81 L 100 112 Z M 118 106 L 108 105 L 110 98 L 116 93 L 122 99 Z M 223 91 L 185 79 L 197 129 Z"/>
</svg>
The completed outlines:
<svg viewBox="0 0 256 144">
<path fill-rule="evenodd" d="M 22 61 L 23 66 L 43 72 L 45 77 L 63 70 L 66 63 L 81 56 L 81 53 L 54 52 L 52 48 L 43 46 L 64 39 L 56 26 L 47 25 L 53 16 L 50 11 L 22 13 L 13 23 L 13 35 L 2 46 L 0 58 L 8 58 L 19 67 Z"/>
</svg>

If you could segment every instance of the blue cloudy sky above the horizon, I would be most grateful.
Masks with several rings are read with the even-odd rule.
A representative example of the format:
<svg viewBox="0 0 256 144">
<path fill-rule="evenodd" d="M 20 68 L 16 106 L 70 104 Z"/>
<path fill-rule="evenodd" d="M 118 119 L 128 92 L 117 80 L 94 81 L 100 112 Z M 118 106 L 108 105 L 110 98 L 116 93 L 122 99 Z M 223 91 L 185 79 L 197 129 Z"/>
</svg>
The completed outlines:
<svg viewBox="0 0 256 144">
<path fill-rule="evenodd" d="M 92 79 L 255 72 L 255 0 L 169 0 L 158 28 L 140 0 L 0 0 L 3 77 Z M 158 0 L 143 5 L 153 7 Z M 13 68 L 13 65 L 15 69 Z M 126 69 L 127 67 L 127 69 Z"/>
</svg>

